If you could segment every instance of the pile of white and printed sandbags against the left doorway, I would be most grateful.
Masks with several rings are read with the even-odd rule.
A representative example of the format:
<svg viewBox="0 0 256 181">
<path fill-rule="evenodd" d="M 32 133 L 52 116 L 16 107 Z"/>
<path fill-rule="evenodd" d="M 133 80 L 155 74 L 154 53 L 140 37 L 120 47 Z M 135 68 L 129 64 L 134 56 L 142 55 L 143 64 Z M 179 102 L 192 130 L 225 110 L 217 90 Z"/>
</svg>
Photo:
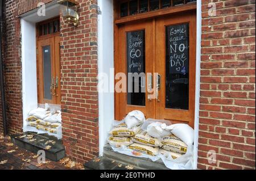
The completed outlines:
<svg viewBox="0 0 256 181">
<path fill-rule="evenodd" d="M 51 109 L 48 104 L 46 108 L 31 110 L 26 121 L 27 131 L 48 132 L 53 136 L 61 134 L 61 112 Z"/>
</svg>

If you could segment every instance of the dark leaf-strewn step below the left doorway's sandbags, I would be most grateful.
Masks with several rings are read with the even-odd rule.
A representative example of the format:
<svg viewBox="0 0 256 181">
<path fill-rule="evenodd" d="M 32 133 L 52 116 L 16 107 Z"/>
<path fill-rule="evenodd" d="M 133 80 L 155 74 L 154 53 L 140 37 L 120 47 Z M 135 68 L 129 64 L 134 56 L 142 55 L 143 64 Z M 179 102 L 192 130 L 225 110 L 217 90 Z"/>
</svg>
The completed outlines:
<svg viewBox="0 0 256 181">
<path fill-rule="evenodd" d="M 28 140 L 28 135 L 33 135 L 32 140 L 35 140 Z M 22 134 L 13 134 L 10 137 L 14 145 L 20 146 L 21 148 L 24 148 L 26 150 L 30 150 L 35 154 L 37 154 L 39 150 L 44 150 L 46 152 L 46 158 L 51 159 L 52 161 L 57 162 L 65 157 L 65 148 L 62 144 L 62 141 L 57 140 L 57 138 L 54 136 L 49 136 L 48 134 L 36 134 L 33 132 L 27 132 Z M 51 140 L 55 141 L 56 143 L 54 145 L 51 143 L 46 145 L 46 142 Z M 48 145 L 52 147 L 51 149 L 46 150 L 45 148 Z"/>
</svg>

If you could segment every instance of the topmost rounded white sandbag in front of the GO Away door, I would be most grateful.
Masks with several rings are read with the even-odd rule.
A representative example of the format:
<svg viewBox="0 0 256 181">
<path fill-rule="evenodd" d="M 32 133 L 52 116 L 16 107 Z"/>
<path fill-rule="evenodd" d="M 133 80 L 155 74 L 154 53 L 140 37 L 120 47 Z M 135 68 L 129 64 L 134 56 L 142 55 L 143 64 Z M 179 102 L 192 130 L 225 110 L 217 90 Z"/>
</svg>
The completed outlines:
<svg viewBox="0 0 256 181">
<path fill-rule="evenodd" d="M 129 112 L 128 115 L 125 117 L 125 123 L 128 129 L 142 125 L 144 121 L 144 114 L 141 111 L 137 110 Z"/>
</svg>

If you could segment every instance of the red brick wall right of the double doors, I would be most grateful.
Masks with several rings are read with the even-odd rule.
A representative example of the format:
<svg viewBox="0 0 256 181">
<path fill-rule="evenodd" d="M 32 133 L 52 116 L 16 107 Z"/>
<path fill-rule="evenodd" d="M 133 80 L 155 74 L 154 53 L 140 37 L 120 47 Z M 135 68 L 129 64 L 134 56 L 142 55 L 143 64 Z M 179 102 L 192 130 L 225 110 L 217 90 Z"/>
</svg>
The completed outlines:
<svg viewBox="0 0 256 181">
<path fill-rule="evenodd" d="M 255 0 L 202 1 L 199 169 L 255 169 Z M 214 150 L 217 162 L 209 164 Z"/>
</svg>

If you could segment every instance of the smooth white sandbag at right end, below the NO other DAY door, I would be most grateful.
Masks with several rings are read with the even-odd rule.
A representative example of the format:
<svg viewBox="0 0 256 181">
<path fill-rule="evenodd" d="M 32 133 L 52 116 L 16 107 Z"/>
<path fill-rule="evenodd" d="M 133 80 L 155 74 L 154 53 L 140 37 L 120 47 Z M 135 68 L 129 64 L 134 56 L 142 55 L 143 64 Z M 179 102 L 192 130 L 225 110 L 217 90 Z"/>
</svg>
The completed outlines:
<svg viewBox="0 0 256 181">
<path fill-rule="evenodd" d="M 168 129 L 171 130 L 172 134 L 184 141 L 186 145 L 193 144 L 194 130 L 188 124 L 172 124 L 168 126 Z"/>
</svg>

